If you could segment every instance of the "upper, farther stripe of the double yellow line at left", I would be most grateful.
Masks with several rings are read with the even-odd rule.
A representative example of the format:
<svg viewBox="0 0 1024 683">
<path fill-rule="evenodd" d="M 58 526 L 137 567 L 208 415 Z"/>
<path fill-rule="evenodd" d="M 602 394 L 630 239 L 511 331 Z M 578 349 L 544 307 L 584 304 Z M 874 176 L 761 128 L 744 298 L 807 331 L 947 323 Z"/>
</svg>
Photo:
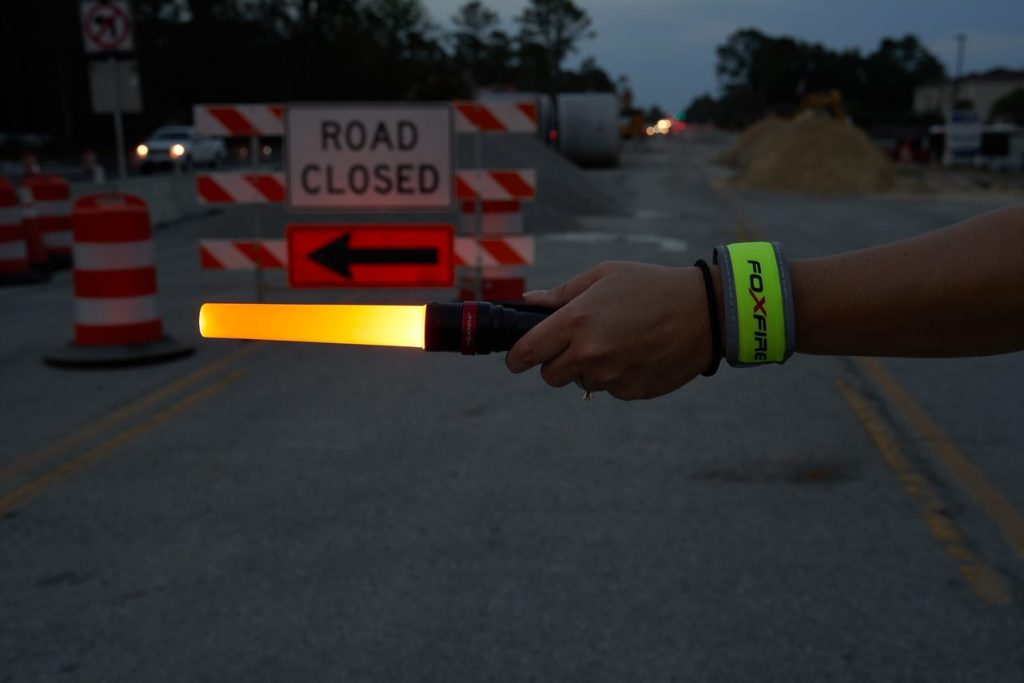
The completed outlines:
<svg viewBox="0 0 1024 683">
<path fill-rule="evenodd" d="M 99 420 L 95 420 L 86 426 L 58 438 L 57 440 L 44 445 L 43 447 L 34 451 L 28 456 L 23 457 L 19 460 L 14 461 L 6 467 L 0 468 L 0 482 L 4 482 L 12 477 L 23 474 L 27 470 L 33 469 L 46 463 L 54 458 L 62 455 L 70 449 L 78 445 L 79 443 L 96 436 L 105 429 L 115 427 L 118 424 L 124 422 L 125 420 L 138 415 L 142 411 L 169 398 L 170 396 L 182 391 L 189 386 L 197 384 L 198 382 L 206 379 L 210 375 L 213 375 L 217 371 L 223 369 L 224 367 L 230 365 L 231 362 L 244 357 L 245 355 L 251 353 L 255 349 L 263 346 L 263 344 L 253 343 L 242 346 L 232 351 L 228 351 L 221 357 L 210 362 L 199 370 L 193 371 L 191 373 L 177 379 L 169 384 L 165 384 L 162 387 L 158 387 L 151 393 L 126 404 L 122 408 L 114 411 L 113 413 L 106 415 Z"/>
</svg>

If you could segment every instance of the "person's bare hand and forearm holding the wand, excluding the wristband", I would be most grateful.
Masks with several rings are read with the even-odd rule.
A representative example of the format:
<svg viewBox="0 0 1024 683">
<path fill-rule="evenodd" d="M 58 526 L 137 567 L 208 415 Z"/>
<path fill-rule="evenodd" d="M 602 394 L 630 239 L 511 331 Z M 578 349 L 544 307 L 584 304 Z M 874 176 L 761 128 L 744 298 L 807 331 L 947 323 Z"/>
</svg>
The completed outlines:
<svg viewBox="0 0 1024 683">
<path fill-rule="evenodd" d="M 799 352 L 936 356 L 1024 347 L 1024 207 L 795 260 L 791 272 Z M 718 268 L 713 280 L 724 325 Z M 540 365 L 553 386 L 581 381 L 629 399 L 673 391 L 711 365 L 697 268 L 603 263 L 526 300 L 558 310 L 512 348 L 512 372 Z"/>
</svg>

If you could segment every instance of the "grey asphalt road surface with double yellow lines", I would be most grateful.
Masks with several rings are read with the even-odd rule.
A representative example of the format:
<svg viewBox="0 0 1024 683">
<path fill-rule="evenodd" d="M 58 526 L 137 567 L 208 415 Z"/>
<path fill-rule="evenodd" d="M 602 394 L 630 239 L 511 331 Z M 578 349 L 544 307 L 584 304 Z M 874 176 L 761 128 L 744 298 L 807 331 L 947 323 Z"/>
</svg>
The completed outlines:
<svg viewBox="0 0 1024 683">
<path fill-rule="evenodd" d="M 741 193 L 718 148 L 589 171 L 624 210 L 544 225 L 529 286 L 1020 202 Z M 795 356 L 624 403 L 495 355 L 201 340 L 202 302 L 254 295 L 197 237 L 250 215 L 158 231 L 183 360 L 46 367 L 70 273 L 0 290 L 0 682 L 1024 680 L 1024 355 Z"/>
</svg>

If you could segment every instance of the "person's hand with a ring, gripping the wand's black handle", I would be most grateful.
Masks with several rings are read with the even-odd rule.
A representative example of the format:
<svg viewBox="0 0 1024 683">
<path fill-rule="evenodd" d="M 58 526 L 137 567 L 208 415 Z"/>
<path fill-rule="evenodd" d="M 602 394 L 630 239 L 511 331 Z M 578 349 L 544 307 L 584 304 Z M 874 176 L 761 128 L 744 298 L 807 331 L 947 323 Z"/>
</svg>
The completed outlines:
<svg viewBox="0 0 1024 683">
<path fill-rule="evenodd" d="M 541 366 L 555 387 L 579 381 L 615 398 L 653 398 L 712 360 L 703 280 L 697 268 L 607 262 L 526 302 L 556 308 L 512 347 L 513 373 Z"/>
</svg>

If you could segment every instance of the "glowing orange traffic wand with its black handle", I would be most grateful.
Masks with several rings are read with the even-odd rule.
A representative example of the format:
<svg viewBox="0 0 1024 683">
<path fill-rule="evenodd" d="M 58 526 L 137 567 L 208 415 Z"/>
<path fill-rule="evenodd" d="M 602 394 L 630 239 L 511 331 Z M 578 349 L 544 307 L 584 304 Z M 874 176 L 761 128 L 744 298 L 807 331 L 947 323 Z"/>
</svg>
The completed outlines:
<svg viewBox="0 0 1024 683">
<path fill-rule="evenodd" d="M 216 339 L 399 346 L 466 355 L 506 351 L 550 310 L 485 301 L 415 306 L 206 303 L 200 334 Z"/>
</svg>

